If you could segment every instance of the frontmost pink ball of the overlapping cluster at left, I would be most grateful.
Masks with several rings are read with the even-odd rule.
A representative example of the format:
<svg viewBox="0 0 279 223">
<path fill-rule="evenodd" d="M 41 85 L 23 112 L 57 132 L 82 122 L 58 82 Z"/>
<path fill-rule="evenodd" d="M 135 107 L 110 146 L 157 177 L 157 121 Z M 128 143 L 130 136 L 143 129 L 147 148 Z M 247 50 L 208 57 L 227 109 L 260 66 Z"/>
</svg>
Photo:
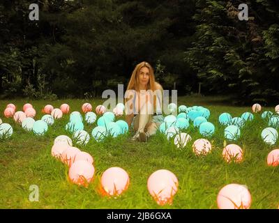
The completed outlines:
<svg viewBox="0 0 279 223">
<path fill-rule="evenodd" d="M 95 168 L 91 163 L 84 160 L 78 160 L 70 166 L 68 176 L 71 182 L 87 187 L 93 180 L 94 173 Z"/>
</svg>

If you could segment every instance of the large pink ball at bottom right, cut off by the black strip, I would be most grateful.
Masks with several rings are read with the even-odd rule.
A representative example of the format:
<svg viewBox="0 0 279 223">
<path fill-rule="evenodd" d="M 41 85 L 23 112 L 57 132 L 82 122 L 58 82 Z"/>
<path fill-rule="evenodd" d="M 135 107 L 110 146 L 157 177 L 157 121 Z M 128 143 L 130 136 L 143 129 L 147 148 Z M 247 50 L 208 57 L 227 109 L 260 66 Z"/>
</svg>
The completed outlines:
<svg viewBox="0 0 279 223">
<path fill-rule="evenodd" d="M 236 183 L 225 185 L 217 196 L 219 209 L 248 209 L 251 202 L 251 194 L 247 187 Z"/>
</svg>

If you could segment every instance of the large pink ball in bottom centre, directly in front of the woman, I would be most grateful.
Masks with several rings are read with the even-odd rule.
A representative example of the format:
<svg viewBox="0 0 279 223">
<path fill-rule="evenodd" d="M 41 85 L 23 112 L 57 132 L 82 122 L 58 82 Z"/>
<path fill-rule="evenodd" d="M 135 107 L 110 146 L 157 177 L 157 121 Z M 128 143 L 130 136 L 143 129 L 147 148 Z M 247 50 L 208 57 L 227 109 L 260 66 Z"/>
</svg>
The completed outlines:
<svg viewBox="0 0 279 223">
<path fill-rule="evenodd" d="M 179 180 L 167 169 L 155 171 L 147 180 L 149 193 L 160 206 L 172 204 L 178 186 Z"/>
</svg>

